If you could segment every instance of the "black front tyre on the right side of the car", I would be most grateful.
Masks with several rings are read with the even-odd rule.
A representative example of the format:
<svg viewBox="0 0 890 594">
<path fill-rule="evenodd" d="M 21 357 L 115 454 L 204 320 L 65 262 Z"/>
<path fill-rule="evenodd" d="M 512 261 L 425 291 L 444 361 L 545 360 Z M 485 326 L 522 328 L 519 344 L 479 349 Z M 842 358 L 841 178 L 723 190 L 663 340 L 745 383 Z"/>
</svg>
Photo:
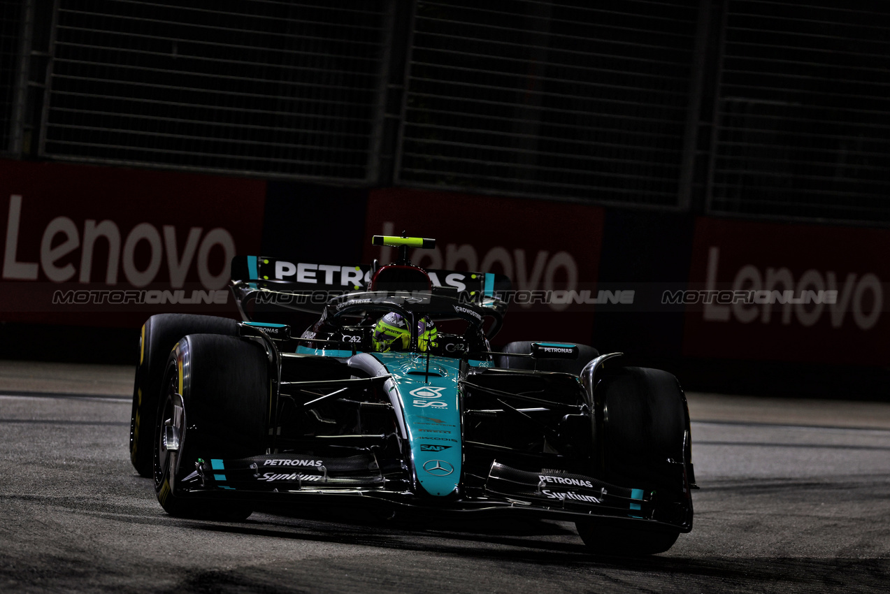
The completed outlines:
<svg viewBox="0 0 890 594">
<path fill-rule="evenodd" d="M 672 522 L 692 521 L 685 494 L 689 413 L 676 378 L 658 369 L 624 367 L 603 378 L 595 398 L 602 401 L 604 479 L 610 483 L 655 491 Z M 657 518 L 659 519 L 659 518 Z M 665 518 L 660 518 L 665 519 Z M 649 526 L 601 526 L 578 522 L 588 550 L 610 555 L 652 555 L 676 542 L 679 530 Z"/>
</svg>

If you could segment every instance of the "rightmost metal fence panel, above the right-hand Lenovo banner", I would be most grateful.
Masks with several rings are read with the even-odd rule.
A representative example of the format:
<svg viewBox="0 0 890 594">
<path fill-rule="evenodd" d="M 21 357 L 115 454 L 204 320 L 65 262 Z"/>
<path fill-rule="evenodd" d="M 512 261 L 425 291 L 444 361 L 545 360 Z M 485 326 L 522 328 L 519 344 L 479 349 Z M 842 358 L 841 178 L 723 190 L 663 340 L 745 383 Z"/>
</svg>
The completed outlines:
<svg viewBox="0 0 890 594">
<path fill-rule="evenodd" d="M 731 0 L 711 213 L 890 221 L 890 3 Z"/>
</svg>

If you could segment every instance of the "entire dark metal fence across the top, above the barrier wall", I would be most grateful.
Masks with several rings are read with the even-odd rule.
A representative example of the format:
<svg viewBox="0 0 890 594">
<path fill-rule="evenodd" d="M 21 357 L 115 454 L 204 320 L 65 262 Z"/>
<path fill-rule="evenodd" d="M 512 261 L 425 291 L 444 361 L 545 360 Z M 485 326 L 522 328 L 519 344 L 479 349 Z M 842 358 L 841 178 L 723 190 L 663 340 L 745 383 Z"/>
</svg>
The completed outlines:
<svg viewBox="0 0 890 594">
<path fill-rule="evenodd" d="M 890 223 L 888 2 L 0 0 L 0 16 L 13 156 Z"/>
</svg>

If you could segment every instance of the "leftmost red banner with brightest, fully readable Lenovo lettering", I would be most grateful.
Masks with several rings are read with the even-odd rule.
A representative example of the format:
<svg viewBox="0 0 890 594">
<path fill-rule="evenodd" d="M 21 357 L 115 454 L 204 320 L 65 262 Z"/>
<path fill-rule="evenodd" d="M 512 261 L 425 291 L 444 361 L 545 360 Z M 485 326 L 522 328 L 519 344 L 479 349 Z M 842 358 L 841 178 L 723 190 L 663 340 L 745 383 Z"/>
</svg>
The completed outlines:
<svg viewBox="0 0 890 594">
<path fill-rule="evenodd" d="M 233 315 L 229 262 L 258 252 L 264 199 L 263 181 L 0 160 L 0 319 Z"/>
</svg>

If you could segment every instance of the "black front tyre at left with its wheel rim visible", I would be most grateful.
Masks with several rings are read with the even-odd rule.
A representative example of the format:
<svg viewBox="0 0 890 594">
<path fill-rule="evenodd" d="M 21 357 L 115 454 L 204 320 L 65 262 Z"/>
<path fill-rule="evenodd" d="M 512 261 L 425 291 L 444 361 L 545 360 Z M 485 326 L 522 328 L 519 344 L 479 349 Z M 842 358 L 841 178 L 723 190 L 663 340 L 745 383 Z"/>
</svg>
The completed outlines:
<svg viewBox="0 0 890 594">
<path fill-rule="evenodd" d="M 162 381 L 153 448 L 161 507 L 179 517 L 247 518 L 251 510 L 243 503 L 190 498 L 183 492 L 200 487 L 198 457 L 244 458 L 265 451 L 265 350 L 248 339 L 190 334 L 170 353 Z"/>
</svg>

